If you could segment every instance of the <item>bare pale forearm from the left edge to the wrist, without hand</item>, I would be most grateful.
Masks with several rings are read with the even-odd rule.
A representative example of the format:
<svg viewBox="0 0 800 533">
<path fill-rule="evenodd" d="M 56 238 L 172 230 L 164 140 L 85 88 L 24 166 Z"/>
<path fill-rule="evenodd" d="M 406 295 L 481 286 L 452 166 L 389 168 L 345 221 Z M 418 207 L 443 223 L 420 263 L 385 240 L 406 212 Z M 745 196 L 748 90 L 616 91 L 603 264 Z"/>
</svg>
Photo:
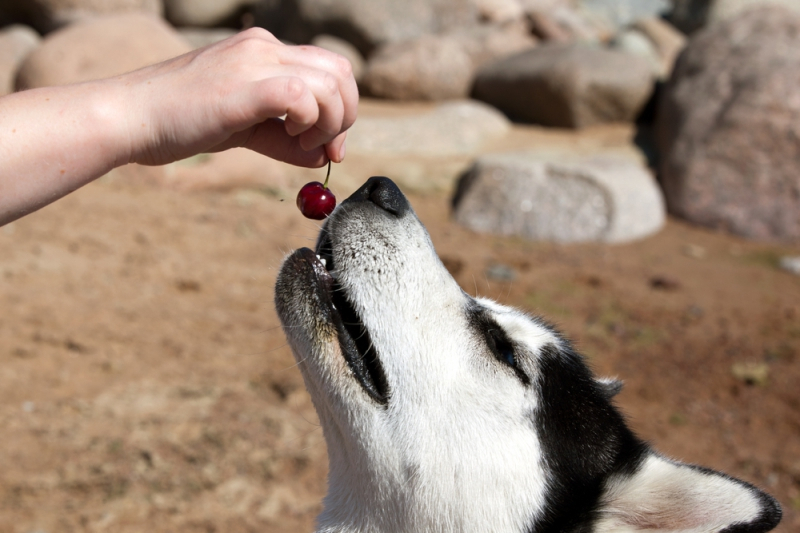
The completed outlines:
<svg viewBox="0 0 800 533">
<path fill-rule="evenodd" d="M 118 93 L 105 80 L 0 98 L 0 225 L 128 162 Z"/>
</svg>

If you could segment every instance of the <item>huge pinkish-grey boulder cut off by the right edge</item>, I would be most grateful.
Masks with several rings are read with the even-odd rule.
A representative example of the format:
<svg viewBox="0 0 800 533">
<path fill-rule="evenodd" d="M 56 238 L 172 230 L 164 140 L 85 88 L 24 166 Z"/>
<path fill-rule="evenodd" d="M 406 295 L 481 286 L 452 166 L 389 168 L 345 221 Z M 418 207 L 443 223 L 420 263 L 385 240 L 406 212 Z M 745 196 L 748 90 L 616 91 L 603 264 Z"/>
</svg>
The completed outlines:
<svg viewBox="0 0 800 533">
<path fill-rule="evenodd" d="M 743 13 L 698 32 L 658 109 L 672 213 L 800 241 L 800 15 Z"/>
</svg>

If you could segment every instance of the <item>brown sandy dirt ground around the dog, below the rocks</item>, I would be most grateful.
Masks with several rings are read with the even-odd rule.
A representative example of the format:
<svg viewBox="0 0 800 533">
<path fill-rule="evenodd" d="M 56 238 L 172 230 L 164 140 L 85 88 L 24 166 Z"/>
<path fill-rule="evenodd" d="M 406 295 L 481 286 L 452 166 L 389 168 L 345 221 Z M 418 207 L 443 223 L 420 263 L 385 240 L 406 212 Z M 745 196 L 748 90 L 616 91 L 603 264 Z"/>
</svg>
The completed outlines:
<svg viewBox="0 0 800 533">
<path fill-rule="evenodd" d="M 557 324 L 625 380 L 642 437 L 765 488 L 800 531 L 800 277 L 777 268 L 800 248 L 676 220 L 531 243 L 409 197 L 468 292 Z M 325 444 L 272 297 L 317 229 L 274 190 L 114 175 L 0 228 L 0 532 L 311 531 Z"/>
</svg>

